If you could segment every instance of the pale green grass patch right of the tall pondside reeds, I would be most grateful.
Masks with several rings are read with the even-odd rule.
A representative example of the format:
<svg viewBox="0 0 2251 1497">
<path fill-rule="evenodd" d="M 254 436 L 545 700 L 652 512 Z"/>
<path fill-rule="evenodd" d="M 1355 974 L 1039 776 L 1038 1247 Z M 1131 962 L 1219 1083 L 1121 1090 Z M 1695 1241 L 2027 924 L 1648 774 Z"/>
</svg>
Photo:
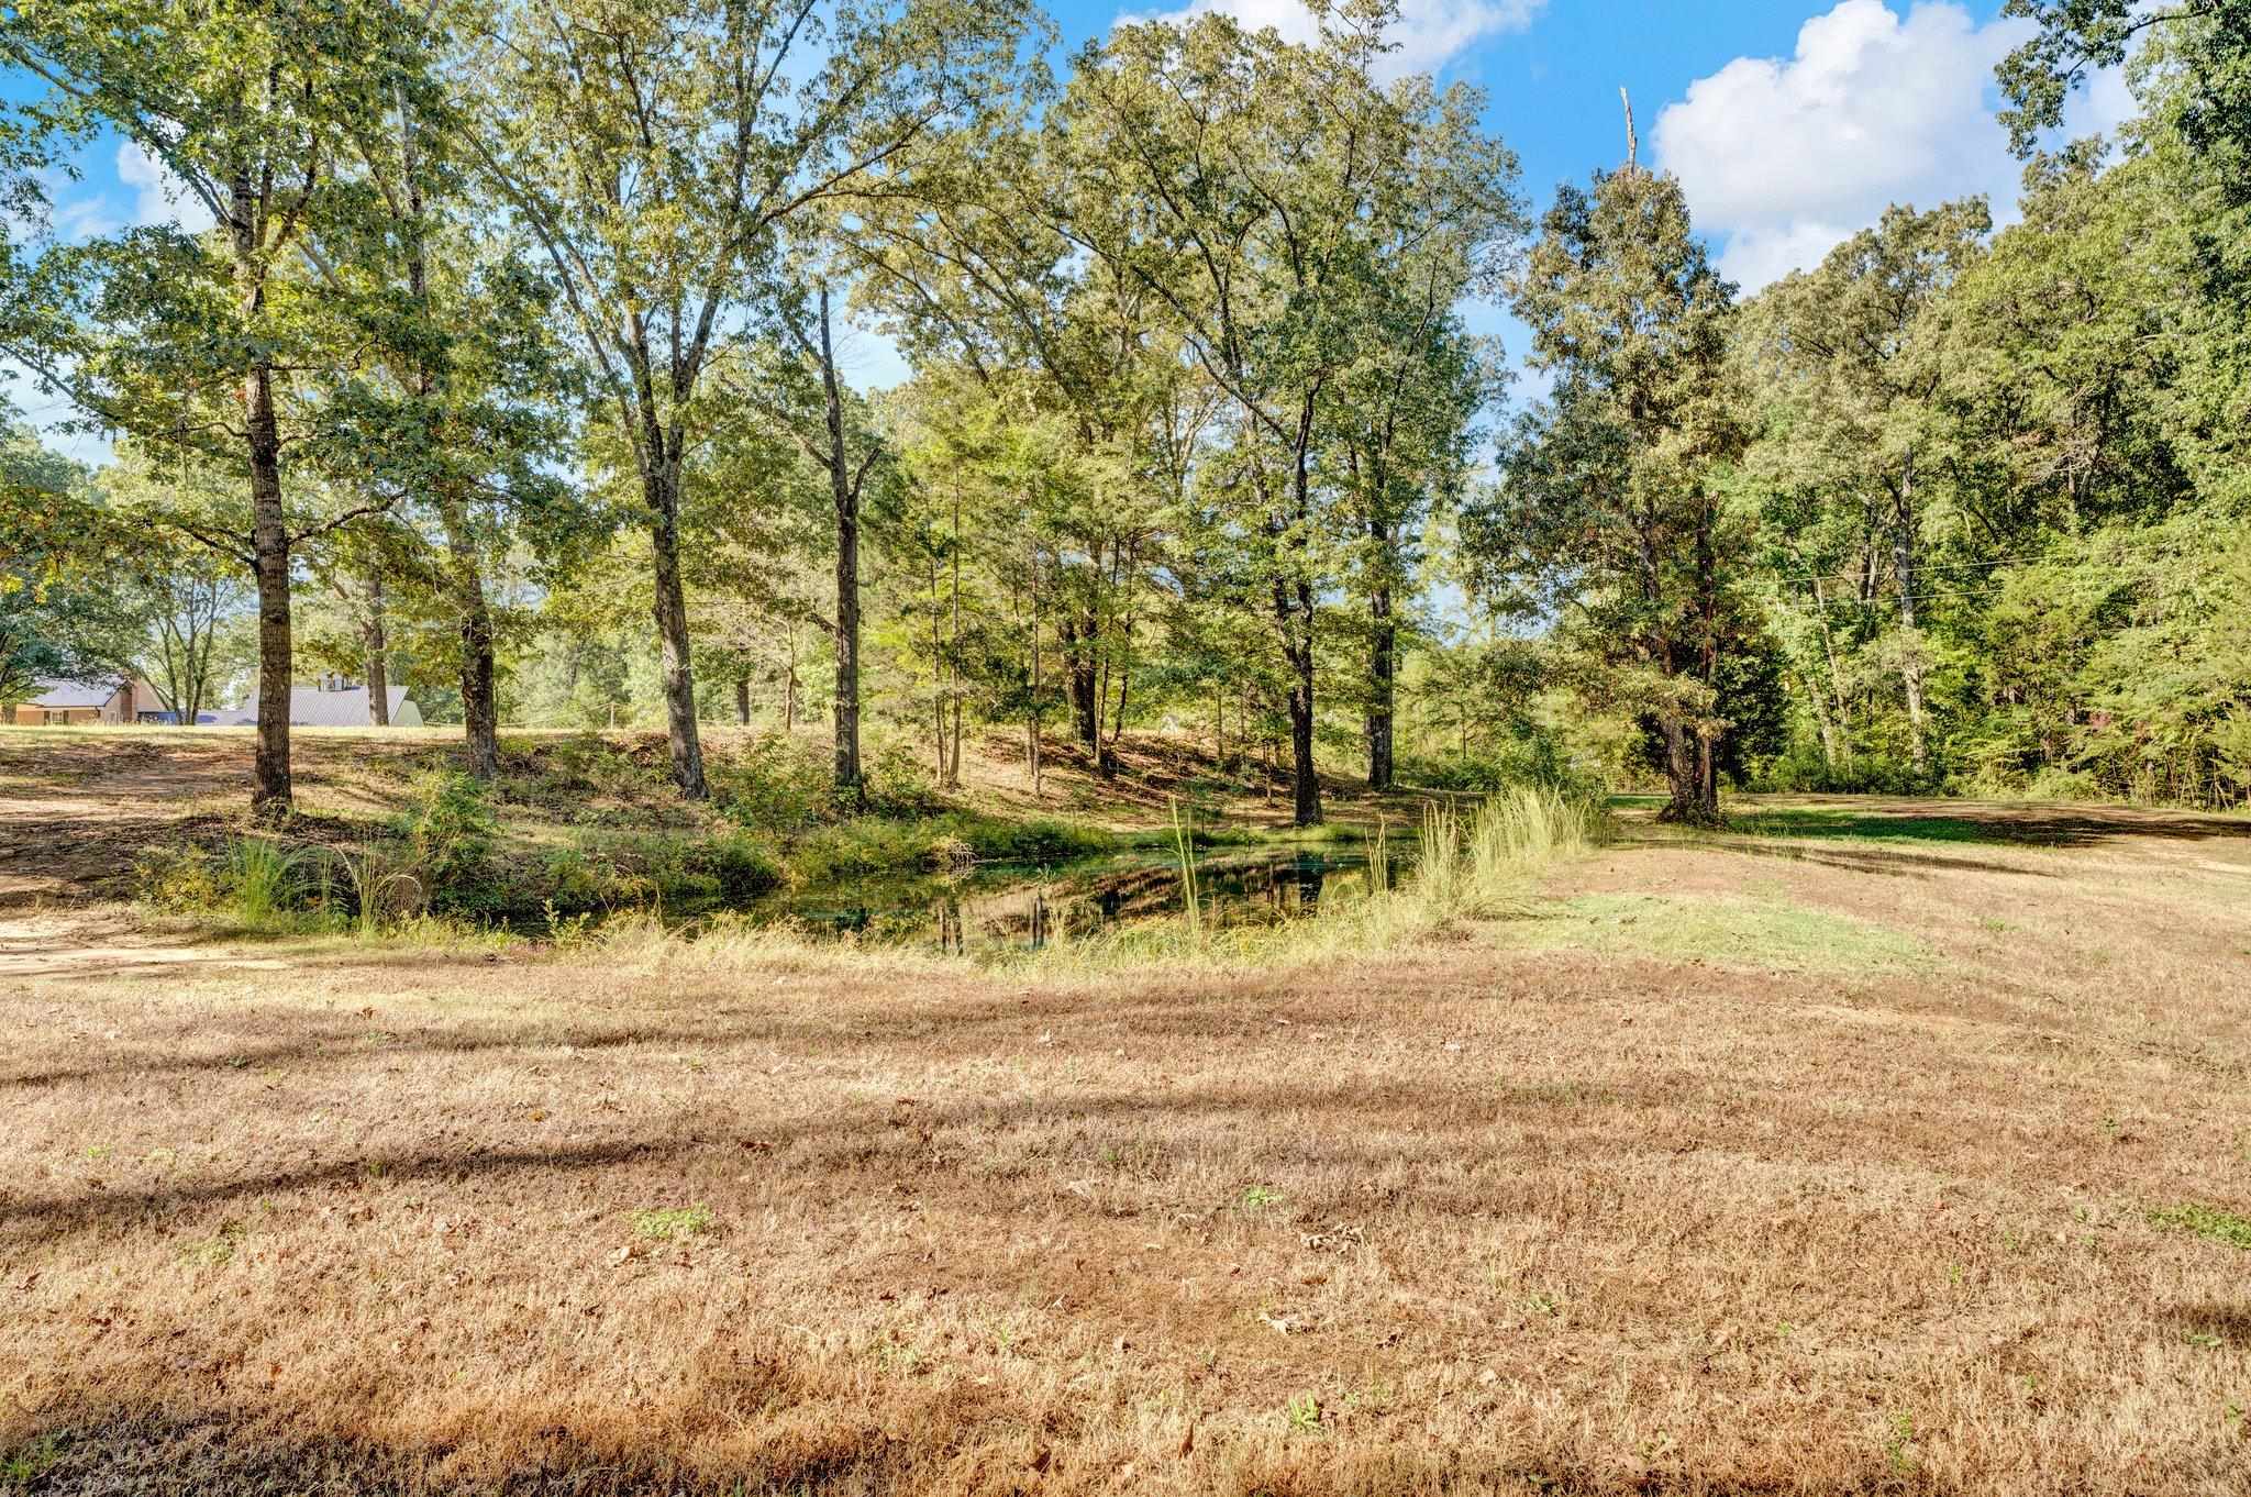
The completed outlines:
<svg viewBox="0 0 2251 1497">
<path fill-rule="evenodd" d="M 1907 932 L 1781 898 L 1691 894 L 1582 894 L 1506 927 L 1533 950 L 1596 950 L 1704 959 L 1785 972 L 1862 972 L 1927 966 L 1929 945 Z"/>
</svg>

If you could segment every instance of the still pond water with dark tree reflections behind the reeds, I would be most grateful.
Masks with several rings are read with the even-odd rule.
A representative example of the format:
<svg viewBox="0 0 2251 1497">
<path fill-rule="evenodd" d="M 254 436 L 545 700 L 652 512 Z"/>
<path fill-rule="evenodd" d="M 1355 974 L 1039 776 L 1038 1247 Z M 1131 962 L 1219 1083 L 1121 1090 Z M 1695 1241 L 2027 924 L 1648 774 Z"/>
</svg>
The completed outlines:
<svg viewBox="0 0 2251 1497">
<path fill-rule="evenodd" d="M 1405 873 L 1407 855 L 1400 846 L 1389 849 L 1391 882 Z M 1207 925 L 1265 925 L 1315 914 L 1324 900 L 1366 894 L 1369 849 L 1207 853 L 1198 858 L 1195 882 Z M 1155 855 L 1071 869 L 984 864 L 961 878 L 882 878 L 801 889 L 761 907 L 770 918 L 792 918 L 813 930 L 954 952 L 1035 948 L 1180 912 L 1180 867 Z"/>
</svg>

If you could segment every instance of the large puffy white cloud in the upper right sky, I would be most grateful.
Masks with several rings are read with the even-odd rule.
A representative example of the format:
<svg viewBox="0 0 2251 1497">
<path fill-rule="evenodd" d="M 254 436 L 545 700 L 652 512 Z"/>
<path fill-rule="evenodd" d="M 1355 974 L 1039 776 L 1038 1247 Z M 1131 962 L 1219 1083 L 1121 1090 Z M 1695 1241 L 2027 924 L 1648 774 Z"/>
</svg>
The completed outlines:
<svg viewBox="0 0 2251 1497">
<path fill-rule="evenodd" d="M 1889 203 L 1983 191 L 2001 207 L 2017 164 L 1992 68 L 2026 34 L 1947 2 L 1900 16 L 1841 0 L 1799 29 L 1796 56 L 1738 56 L 1691 83 L 1657 117 L 1657 164 L 1697 225 L 1727 236 L 1720 268 L 1747 288 L 1819 261 Z"/>
</svg>

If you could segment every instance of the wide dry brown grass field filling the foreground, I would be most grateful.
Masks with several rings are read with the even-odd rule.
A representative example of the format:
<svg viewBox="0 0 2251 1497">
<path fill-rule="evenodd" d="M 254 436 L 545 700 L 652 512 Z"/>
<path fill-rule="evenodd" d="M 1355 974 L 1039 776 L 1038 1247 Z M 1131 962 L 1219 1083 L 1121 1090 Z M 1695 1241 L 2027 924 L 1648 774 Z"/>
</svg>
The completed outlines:
<svg viewBox="0 0 2251 1497">
<path fill-rule="evenodd" d="M 1168 972 L 191 941 L 0 770 L 7 1492 L 2251 1490 L 2244 819 L 1625 817 Z"/>
</svg>

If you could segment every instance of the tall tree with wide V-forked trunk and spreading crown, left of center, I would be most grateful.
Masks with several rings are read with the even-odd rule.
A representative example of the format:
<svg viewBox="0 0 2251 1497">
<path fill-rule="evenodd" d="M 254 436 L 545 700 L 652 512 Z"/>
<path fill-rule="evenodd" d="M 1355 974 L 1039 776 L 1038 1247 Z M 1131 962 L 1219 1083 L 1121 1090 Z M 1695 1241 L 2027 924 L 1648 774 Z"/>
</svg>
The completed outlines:
<svg viewBox="0 0 2251 1497">
<path fill-rule="evenodd" d="M 1011 92 L 1024 25 L 1015 0 L 511 0 L 470 68 L 470 149 L 545 248 L 642 488 L 689 797 L 680 484 L 714 349 L 783 225 Z"/>
</svg>

